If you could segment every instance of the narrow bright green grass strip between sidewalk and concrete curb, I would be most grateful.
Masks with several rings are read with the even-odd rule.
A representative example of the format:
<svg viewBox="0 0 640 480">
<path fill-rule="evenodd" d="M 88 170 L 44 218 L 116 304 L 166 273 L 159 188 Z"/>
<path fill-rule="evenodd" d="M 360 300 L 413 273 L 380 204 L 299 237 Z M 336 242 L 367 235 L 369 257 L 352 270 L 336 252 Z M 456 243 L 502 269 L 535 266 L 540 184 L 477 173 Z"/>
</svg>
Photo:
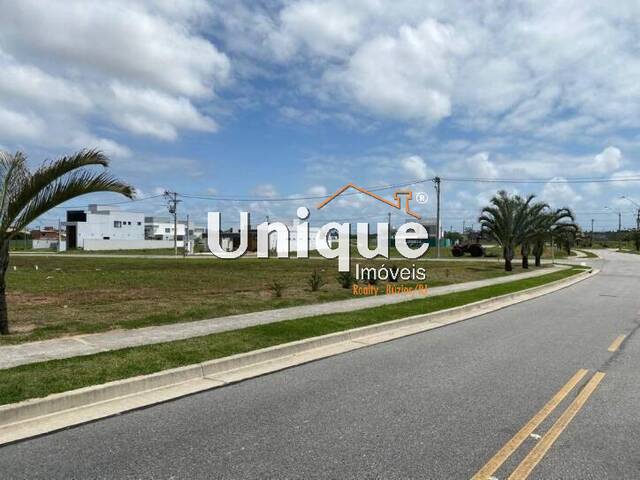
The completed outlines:
<svg viewBox="0 0 640 480">
<path fill-rule="evenodd" d="M 514 282 L 348 313 L 286 320 L 203 337 L 0 370 L 0 405 L 249 352 L 305 338 L 427 314 L 561 280 L 574 267 Z"/>
</svg>

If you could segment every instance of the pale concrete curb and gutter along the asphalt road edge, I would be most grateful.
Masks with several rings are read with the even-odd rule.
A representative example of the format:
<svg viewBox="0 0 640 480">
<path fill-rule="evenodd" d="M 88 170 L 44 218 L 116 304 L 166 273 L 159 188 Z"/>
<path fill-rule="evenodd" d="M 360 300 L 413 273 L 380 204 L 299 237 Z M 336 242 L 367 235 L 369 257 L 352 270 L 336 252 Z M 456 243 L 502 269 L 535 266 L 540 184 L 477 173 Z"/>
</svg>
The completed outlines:
<svg viewBox="0 0 640 480">
<path fill-rule="evenodd" d="M 461 307 L 0 406 L 0 445 L 457 323 L 556 292 L 598 272 L 590 270 Z"/>
</svg>

